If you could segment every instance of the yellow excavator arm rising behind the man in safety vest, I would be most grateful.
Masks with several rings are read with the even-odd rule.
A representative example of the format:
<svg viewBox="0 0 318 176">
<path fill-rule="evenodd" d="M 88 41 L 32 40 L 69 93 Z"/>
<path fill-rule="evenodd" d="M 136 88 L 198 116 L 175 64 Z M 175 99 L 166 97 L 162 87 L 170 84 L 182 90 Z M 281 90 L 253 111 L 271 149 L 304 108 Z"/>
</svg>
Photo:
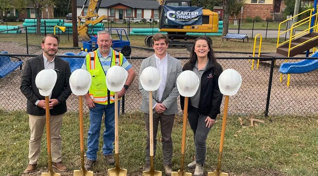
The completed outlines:
<svg viewBox="0 0 318 176">
<path fill-rule="evenodd" d="M 87 8 L 86 16 L 78 16 L 78 35 L 79 41 L 88 41 L 91 40 L 90 35 L 88 33 L 88 25 L 95 25 L 100 23 L 103 20 L 109 20 L 109 17 L 106 15 L 99 16 L 98 9 L 100 7 L 100 3 L 102 0 L 90 0 Z M 85 0 L 83 8 L 81 10 L 80 15 L 86 5 L 87 0 Z M 85 19 L 85 22 L 82 23 L 82 19 Z"/>
</svg>

